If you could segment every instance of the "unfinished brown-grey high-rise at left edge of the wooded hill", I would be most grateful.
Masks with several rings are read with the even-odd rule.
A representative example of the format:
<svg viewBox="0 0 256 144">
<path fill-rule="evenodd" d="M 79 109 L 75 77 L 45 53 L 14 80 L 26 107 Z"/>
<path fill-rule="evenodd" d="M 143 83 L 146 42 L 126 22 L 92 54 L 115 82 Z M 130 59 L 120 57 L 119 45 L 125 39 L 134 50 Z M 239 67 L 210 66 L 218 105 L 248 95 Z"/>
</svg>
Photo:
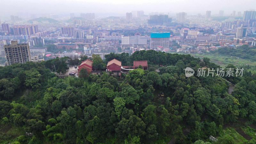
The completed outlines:
<svg viewBox="0 0 256 144">
<path fill-rule="evenodd" d="M 18 44 L 17 40 L 11 41 L 11 44 L 4 45 L 7 65 L 12 63 L 25 63 L 31 61 L 28 44 Z"/>
</svg>

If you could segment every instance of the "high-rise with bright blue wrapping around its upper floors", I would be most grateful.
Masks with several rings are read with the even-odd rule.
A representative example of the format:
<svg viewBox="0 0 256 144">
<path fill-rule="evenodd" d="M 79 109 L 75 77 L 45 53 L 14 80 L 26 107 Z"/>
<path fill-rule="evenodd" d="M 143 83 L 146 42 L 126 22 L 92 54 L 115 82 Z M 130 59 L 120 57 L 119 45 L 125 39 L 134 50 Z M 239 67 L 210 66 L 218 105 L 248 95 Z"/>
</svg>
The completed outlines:
<svg viewBox="0 0 256 144">
<path fill-rule="evenodd" d="M 164 49 L 170 46 L 170 32 L 150 33 L 150 49 L 157 49 L 162 46 Z"/>
</svg>

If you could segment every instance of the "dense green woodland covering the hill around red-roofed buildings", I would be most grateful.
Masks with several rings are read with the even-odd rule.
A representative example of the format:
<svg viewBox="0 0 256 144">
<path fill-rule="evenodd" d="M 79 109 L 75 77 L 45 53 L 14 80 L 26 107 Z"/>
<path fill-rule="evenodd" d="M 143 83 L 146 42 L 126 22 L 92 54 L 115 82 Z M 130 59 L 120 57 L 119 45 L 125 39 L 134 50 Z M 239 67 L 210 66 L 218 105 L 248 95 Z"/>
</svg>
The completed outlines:
<svg viewBox="0 0 256 144">
<path fill-rule="evenodd" d="M 235 143 L 223 125 L 243 118 L 256 123 L 256 77 L 186 77 L 184 68 L 219 68 L 209 59 L 164 52 L 137 51 L 92 57 L 93 67 L 104 69 L 113 58 L 122 65 L 148 60 L 148 70 L 135 69 L 121 78 L 80 75 L 58 78 L 68 64 L 87 59 L 57 58 L 0 67 L 0 122 L 21 129 L 13 137 L 0 131 L 0 143 Z M 228 65 L 228 67 L 234 67 Z M 156 72 L 156 68 L 160 72 Z M 192 127 L 187 135 L 182 130 Z M 26 132 L 33 136 L 25 136 Z M 255 142 L 252 141 L 251 142 Z"/>
</svg>

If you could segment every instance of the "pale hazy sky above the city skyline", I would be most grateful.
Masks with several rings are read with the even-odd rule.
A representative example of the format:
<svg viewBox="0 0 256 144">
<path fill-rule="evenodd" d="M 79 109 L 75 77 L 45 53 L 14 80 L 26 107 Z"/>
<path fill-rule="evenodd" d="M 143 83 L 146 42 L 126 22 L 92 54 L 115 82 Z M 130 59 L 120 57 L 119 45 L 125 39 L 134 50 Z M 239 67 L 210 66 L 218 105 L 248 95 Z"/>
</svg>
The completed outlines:
<svg viewBox="0 0 256 144">
<path fill-rule="evenodd" d="M 149 12 L 164 12 L 175 15 L 177 12 L 187 12 L 188 15 L 201 13 L 205 15 L 207 10 L 212 15 L 220 10 L 224 15 L 230 15 L 232 11 L 244 12 L 255 10 L 255 0 L 1 0 L 0 18 L 10 19 L 10 15 L 21 14 L 61 14 L 94 12 L 96 17 L 100 14 L 113 16 L 125 16 L 126 12 L 143 10 Z"/>
</svg>

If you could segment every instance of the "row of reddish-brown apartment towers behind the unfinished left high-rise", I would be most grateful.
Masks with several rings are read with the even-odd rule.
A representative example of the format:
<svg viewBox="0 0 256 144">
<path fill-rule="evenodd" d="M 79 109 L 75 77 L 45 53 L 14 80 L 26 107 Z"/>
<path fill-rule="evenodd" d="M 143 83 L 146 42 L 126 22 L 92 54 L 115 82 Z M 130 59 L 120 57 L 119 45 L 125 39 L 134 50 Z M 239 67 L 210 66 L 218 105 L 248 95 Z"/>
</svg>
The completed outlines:
<svg viewBox="0 0 256 144">
<path fill-rule="evenodd" d="M 39 32 L 37 25 L 19 25 L 13 26 L 13 33 L 14 35 L 32 35 Z"/>
</svg>

